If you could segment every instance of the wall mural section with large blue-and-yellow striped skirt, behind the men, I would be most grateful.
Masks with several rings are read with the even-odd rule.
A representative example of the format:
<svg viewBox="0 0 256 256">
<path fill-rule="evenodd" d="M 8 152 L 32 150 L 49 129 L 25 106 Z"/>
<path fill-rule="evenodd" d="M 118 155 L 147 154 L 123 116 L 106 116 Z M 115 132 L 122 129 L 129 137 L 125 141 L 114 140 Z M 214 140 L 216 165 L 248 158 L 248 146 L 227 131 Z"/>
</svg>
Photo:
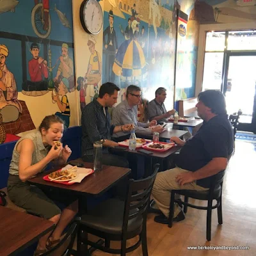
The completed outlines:
<svg viewBox="0 0 256 256">
<path fill-rule="evenodd" d="M 127 86 L 141 86 L 141 120 L 159 86 L 168 90 L 166 107 L 173 106 L 177 8 L 176 0 L 104 1 L 102 83 L 120 86 L 118 102 Z"/>
</svg>

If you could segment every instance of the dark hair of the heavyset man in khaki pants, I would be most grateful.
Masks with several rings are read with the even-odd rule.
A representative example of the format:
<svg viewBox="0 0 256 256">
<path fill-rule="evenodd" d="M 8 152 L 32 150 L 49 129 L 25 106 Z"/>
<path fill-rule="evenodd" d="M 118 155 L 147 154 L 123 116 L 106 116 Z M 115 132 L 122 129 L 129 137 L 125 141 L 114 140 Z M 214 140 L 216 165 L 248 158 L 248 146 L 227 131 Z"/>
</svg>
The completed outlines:
<svg viewBox="0 0 256 256">
<path fill-rule="evenodd" d="M 219 90 L 200 92 L 197 99 L 198 101 L 202 101 L 208 108 L 211 108 L 212 113 L 216 115 L 227 115 L 225 96 Z"/>
</svg>

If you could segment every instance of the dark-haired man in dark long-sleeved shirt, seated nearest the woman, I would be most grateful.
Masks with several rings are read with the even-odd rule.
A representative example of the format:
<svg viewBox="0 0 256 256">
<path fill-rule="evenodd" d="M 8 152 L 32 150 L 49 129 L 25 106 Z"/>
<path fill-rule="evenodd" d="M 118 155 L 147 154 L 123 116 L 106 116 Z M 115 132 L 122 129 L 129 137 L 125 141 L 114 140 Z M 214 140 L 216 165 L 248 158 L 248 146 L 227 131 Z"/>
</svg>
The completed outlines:
<svg viewBox="0 0 256 256">
<path fill-rule="evenodd" d="M 82 158 L 86 162 L 93 162 L 93 143 L 104 140 L 102 163 L 112 166 L 129 167 L 124 157 L 109 154 L 109 147 L 114 148 L 118 143 L 111 141 L 113 132 L 131 131 L 133 125 L 111 125 L 108 107 L 116 103 L 118 88 L 113 83 L 104 83 L 100 87 L 99 98 L 85 106 L 82 111 Z"/>
</svg>

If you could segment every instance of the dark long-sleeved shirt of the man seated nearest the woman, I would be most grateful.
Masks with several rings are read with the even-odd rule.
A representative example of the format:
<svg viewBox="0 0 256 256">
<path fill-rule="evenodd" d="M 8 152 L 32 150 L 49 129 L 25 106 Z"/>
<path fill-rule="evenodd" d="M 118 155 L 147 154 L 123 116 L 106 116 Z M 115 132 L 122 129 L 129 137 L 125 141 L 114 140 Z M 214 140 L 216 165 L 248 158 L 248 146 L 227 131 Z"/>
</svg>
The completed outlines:
<svg viewBox="0 0 256 256">
<path fill-rule="evenodd" d="M 82 156 L 93 155 L 93 143 L 99 140 L 111 140 L 114 125 L 110 124 L 108 108 L 105 108 L 98 100 L 93 100 L 83 108 L 82 111 Z M 108 148 L 104 148 L 103 152 L 108 152 Z"/>
</svg>

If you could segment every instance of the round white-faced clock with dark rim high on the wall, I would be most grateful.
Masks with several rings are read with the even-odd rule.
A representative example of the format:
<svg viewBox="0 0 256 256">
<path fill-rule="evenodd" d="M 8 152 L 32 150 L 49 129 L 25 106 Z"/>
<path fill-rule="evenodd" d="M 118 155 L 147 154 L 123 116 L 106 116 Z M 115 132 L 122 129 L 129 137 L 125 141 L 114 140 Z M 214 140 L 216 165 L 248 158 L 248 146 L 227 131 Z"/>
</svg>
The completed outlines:
<svg viewBox="0 0 256 256">
<path fill-rule="evenodd" d="M 84 0 L 80 6 L 80 20 L 84 30 L 93 35 L 100 33 L 103 26 L 103 12 L 97 0 Z"/>
</svg>

